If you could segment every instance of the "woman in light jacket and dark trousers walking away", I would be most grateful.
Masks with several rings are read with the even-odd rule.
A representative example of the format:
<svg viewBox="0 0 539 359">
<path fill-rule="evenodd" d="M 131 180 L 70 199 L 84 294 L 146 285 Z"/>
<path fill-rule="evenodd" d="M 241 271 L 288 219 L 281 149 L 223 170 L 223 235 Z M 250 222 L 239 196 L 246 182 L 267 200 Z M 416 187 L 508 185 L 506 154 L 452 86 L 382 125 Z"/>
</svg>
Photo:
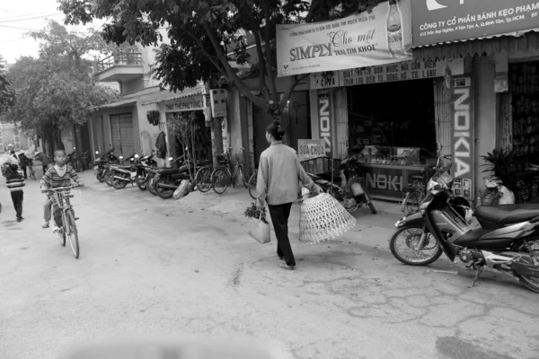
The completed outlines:
<svg viewBox="0 0 539 359">
<path fill-rule="evenodd" d="M 283 144 L 283 136 L 285 131 L 279 121 L 273 121 L 266 127 L 270 148 L 261 153 L 256 191 L 257 206 L 262 208 L 267 202 L 270 209 L 280 265 L 291 270 L 296 267 L 296 259 L 288 239 L 288 216 L 299 194 L 299 181 L 311 192 L 319 194 L 322 189 L 305 173 L 296 151 Z"/>
</svg>

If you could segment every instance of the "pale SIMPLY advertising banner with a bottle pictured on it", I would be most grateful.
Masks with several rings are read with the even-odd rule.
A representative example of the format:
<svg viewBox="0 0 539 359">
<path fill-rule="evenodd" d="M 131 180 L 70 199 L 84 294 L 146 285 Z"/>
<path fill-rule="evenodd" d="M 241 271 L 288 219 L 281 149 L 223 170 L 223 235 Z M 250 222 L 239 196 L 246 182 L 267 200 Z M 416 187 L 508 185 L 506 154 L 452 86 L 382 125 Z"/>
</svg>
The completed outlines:
<svg viewBox="0 0 539 359">
<path fill-rule="evenodd" d="M 390 0 L 331 22 L 277 25 L 278 76 L 410 60 L 410 2 Z"/>
</svg>

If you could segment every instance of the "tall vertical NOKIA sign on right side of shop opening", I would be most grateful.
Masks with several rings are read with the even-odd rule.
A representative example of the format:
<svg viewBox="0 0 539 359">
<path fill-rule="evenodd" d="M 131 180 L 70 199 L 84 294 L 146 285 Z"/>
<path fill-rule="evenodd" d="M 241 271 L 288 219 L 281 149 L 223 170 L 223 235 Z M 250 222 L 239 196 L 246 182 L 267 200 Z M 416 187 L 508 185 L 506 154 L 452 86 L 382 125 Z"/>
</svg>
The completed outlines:
<svg viewBox="0 0 539 359">
<path fill-rule="evenodd" d="M 471 77 L 453 79 L 453 157 L 455 161 L 455 196 L 473 198 L 473 91 Z"/>
</svg>

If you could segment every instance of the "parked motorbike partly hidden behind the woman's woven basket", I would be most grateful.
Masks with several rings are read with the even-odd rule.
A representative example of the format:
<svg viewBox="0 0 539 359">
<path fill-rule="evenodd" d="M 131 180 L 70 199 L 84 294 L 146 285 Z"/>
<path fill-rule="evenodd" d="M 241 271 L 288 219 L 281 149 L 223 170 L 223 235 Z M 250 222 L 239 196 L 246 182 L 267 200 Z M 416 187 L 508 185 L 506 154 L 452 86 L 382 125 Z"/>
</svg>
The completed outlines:
<svg viewBox="0 0 539 359">
<path fill-rule="evenodd" d="M 363 186 L 363 172 L 358 167 L 358 156 L 351 156 L 340 162 L 340 176 L 333 178 L 331 187 L 331 175 L 307 175 L 314 181 L 324 192 L 331 194 L 337 199 L 347 211 L 354 212 L 363 205 L 367 205 L 373 215 L 376 215 L 376 207 L 372 202 L 372 197 L 367 188 Z M 337 183 L 340 183 L 338 185 Z"/>
</svg>

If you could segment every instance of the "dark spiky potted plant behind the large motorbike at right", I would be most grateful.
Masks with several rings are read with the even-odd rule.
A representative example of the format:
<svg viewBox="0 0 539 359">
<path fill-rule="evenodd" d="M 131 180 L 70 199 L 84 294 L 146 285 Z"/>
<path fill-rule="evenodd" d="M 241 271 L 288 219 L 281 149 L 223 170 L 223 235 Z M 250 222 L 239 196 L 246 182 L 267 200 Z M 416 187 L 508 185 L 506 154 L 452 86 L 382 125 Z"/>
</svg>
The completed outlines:
<svg viewBox="0 0 539 359">
<path fill-rule="evenodd" d="M 482 165 L 486 167 L 482 173 L 490 173 L 490 176 L 487 176 L 486 180 L 497 177 L 505 187 L 517 193 L 516 154 L 517 152 L 515 150 L 504 150 L 500 148 L 494 149 L 492 153 L 487 153 L 486 156 L 481 156 L 483 161 L 486 162 Z M 482 204 L 497 205 L 500 196 L 499 188 L 486 188 L 482 193 Z"/>
</svg>

